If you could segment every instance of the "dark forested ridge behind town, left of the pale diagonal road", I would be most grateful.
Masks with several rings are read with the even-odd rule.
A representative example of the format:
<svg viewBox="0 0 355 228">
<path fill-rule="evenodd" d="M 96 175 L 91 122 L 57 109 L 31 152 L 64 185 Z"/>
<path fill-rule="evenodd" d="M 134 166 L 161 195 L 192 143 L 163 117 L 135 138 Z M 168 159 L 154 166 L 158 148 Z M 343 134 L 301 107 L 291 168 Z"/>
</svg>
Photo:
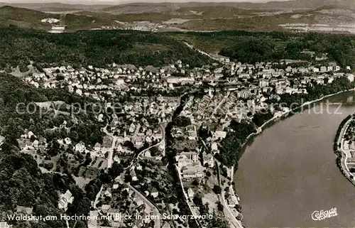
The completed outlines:
<svg viewBox="0 0 355 228">
<path fill-rule="evenodd" d="M 0 68 L 35 63 L 168 65 L 182 60 L 191 67 L 209 63 L 175 38 L 138 31 L 79 31 L 51 34 L 14 26 L 0 28 Z M 23 67 L 21 67 L 23 68 Z"/>
</svg>

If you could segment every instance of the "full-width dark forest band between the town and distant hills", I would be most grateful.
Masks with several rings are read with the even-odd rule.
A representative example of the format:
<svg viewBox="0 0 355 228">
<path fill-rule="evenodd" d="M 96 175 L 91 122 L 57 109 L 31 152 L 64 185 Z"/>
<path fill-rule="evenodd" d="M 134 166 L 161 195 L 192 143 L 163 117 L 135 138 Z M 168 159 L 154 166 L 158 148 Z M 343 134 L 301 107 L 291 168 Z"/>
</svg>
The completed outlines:
<svg viewBox="0 0 355 228">
<path fill-rule="evenodd" d="M 308 60 L 327 53 L 339 65 L 355 67 L 355 36 L 324 33 L 219 31 L 213 33 L 148 33 L 141 31 L 78 31 L 50 34 L 15 26 L 0 28 L 0 67 L 29 61 L 58 65 L 111 63 L 167 65 L 182 60 L 191 67 L 211 63 L 209 58 L 187 48 L 219 53 L 242 63 Z M 315 52 L 311 55 L 309 52 Z M 317 62 L 315 62 L 317 63 Z"/>
</svg>

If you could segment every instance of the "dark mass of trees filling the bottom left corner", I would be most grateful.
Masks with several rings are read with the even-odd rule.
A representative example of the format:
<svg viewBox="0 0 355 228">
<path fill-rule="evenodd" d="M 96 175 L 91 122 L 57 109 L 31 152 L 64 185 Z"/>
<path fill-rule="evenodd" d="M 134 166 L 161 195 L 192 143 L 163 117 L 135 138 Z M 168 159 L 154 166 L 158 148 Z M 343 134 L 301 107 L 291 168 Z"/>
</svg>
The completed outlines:
<svg viewBox="0 0 355 228">
<path fill-rule="evenodd" d="M 88 215 L 90 201 L 75 185 L 71 175 L 41 173 L 32 156 L 18 151 L 11 142 L 1 145 L 0 210 L 16 211 L 16 206 L 33 207 L 33 215 L 60 217 L 58 192 L 70 190 L 75 197 L 68 215 Z M 16 227 L 66 227 L 64 220 L 24 222 L 11 221 Z"/>
</svg>

